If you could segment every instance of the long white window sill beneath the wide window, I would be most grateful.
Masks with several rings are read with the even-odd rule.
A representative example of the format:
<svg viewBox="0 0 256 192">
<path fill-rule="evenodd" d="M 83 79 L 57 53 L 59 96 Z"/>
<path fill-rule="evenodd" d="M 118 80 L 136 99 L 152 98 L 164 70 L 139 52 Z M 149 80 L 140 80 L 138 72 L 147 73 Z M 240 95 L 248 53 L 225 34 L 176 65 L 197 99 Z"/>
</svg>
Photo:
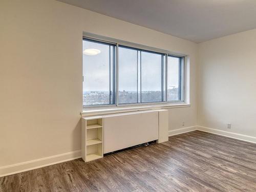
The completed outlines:
<svg viewBox="0 0 256 192">
<path fill-rule="evenodd" d="M 110 113 L 123 113 L 123 112 L 135 112 L 145 110 L 156 110 L 156 109 L 172 109 L 172 108 L 187 108 L 191 104 L 188 103 L 173 103 L 173 104 L 155 104 L 145 106 L 115 106 L 108 109 L 83 109 L 81 116 L 92 116 L 92 115 L 103 115 Z"/>
</svg>

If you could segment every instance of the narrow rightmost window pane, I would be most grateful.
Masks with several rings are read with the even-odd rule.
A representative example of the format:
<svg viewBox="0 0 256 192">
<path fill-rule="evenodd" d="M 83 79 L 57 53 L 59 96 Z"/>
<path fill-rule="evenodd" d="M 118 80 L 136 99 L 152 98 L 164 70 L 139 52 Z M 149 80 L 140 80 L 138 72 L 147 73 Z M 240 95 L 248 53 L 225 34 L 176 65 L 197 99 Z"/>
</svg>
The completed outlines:
<svg viewBox="0 0 256 192">
<path fill-rule="evenodd" d="M 167 100 L 182 100 L 182 58 L 168 56 L 167 66 Z"/>
</svg>

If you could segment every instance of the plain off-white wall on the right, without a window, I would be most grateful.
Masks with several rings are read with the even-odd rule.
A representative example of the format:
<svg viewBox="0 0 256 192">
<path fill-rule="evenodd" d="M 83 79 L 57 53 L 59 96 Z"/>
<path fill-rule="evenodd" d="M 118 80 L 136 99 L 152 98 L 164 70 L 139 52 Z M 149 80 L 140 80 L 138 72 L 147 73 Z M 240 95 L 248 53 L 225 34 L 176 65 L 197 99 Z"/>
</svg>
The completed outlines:
<svg viewBox="0 0 256 192">
<path fill-rule="evenodd" d="M 199 58 L 198 125 L 256 137 L 256 29 L 199 44 Z"/>
</svg>

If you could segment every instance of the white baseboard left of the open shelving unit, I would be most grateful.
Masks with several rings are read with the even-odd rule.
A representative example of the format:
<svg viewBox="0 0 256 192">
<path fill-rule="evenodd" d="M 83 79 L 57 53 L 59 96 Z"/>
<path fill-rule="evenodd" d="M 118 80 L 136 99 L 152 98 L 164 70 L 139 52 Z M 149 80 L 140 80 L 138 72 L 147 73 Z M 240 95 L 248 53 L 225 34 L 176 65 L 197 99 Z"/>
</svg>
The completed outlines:
<svg viewBox="0 0 256 192">
<path fill-rule="evenodd" d="M 81 158 L 81 150 L 0 167 L 0 177 Z"/>
</svg>

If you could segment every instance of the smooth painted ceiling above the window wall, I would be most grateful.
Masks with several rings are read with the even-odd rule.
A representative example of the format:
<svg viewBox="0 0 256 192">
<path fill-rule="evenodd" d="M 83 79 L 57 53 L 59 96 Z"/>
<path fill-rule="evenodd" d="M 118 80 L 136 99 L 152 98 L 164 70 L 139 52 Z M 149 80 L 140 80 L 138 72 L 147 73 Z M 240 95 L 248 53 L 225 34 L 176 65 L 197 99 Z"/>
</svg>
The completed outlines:
<svg viewBox="0 0 256 192">
<path fill-rule="evenodd" d="M 256 0 L 58 0 L 194 42 L 256 28 Z"/>
</svg>

